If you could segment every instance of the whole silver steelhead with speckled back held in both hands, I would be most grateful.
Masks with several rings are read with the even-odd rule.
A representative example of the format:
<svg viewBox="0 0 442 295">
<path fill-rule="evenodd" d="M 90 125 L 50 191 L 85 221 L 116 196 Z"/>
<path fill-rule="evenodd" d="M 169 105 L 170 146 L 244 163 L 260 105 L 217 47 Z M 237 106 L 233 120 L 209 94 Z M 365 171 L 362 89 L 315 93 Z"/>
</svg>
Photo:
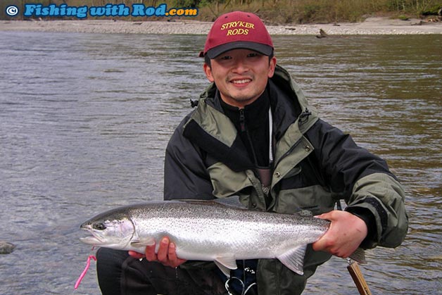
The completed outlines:
<svg viewBox="0 0 442 295">
<path fill-rule="evenodd" d="M 232 203 L 232 199 L 229 202 Z M 222 202 L 222 201 L 221 201 Z M 317 241 L 330 222 L 301 214 L 251 211 L 220 201 L 156 201 L 115 208 L 81 225 L 86 244 L 144 253 L 167 236 L 177 256 L 214 261 L 228 276 L 236 260 L 277 258 L 303 274 L 307 244 Z"/>
</svg>

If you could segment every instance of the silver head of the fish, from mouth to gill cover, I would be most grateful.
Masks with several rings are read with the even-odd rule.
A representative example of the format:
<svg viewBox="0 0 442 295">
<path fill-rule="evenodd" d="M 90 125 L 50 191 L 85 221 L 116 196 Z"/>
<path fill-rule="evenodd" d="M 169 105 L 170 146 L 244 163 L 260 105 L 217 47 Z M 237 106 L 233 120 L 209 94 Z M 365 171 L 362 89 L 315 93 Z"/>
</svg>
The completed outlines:
<svg viewBox="0 0 442 295">
<path fill-rule="evenodd" d="M 119 250 L 128 249 L 135 234 L 134 223 L 124 215 L 97 215 L 84 222 L 80 229 L 91 234 L 80 238 L 83 243 Z"/>
</svg>

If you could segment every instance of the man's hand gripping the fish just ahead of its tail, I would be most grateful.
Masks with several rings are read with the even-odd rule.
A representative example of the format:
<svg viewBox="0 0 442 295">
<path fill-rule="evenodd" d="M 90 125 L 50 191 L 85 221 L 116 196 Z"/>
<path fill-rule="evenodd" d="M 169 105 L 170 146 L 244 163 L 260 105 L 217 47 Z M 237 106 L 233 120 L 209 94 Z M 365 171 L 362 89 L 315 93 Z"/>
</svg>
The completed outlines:
<svg viewBox="0 0 442 295">
<path fill-rule="evenodd" d="M 329 230 L 312 244 L 315 251 L 327 251 L 335 256 L 347 258 L 367 237 L 367 225 L 364 220 L 346 211 L 335 210 L 315 217 L 331 221 Z"/>
</svg>

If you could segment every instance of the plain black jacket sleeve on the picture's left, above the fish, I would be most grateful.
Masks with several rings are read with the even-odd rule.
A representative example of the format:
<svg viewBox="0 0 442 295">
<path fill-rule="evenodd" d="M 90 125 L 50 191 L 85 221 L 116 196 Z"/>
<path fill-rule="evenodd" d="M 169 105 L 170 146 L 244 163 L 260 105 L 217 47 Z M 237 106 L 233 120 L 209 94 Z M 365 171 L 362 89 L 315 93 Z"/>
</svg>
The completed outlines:
<svg viewBox="0 0 442 295">
<path fill-rule="evenodd" d="M 203 153 L 182 134 L 186 120 L 177 127 L 166 148 L 164 199 L 214 199 Z"/>
</svg>

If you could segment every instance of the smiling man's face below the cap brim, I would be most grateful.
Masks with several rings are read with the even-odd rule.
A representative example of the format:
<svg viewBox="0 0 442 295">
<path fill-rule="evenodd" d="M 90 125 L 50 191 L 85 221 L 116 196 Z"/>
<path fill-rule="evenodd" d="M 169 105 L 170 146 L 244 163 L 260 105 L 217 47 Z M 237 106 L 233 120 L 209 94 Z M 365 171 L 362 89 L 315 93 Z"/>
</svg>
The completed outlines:
<svg viewBox="0 0 442 295">
<path fill-rule="evenodd" d="M 244 108 L 263 94 L 267 80 L 273 76 L 276 58 L 249 49 L 233 49 L 204 64 L 210 82 L 215 82 L 221 99 Z"/>
</svg>

